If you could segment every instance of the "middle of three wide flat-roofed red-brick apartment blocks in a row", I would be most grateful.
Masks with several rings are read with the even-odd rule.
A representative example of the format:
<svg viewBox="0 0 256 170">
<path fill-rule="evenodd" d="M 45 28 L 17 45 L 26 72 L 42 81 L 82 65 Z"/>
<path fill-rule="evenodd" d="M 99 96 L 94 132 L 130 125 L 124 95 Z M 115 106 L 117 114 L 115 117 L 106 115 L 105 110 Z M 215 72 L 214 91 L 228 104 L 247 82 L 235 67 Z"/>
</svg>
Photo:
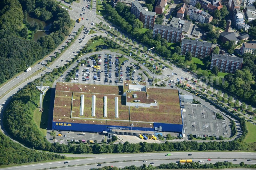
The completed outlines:
<svg viewBox="0 0 256 170">
<path fill-rule="evenodd" d="M 185 55 L 186 52 L 191 52 L 193 57 L 204 58 L 211 53 L 211 43 L 182 39 L 181 55 Z"/>
</svg>

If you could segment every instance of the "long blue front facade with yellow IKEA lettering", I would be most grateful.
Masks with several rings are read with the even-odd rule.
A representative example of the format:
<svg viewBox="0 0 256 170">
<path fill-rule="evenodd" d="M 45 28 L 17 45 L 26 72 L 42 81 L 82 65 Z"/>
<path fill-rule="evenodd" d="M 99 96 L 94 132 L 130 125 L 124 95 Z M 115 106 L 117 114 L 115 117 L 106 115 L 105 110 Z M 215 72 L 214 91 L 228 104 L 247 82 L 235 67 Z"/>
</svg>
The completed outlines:
<svg viewBox="0 0 256 170">
<path fill-rule="evenodd" d="M 182 132 L 183 125 L 167 124 L 167 123 L 154 123 L 154 127 L 162 126 L 163 131 Z M 110 129 L 123 129 L 123 130 L 144 130 L 154 131 L 154 128 L 146 127 L 132 127 L 132 126 L 113 126 L 113 125 L 94 125 L 82 123 L 64 123 L 52 122 L 52 129 L 55 130 L 72 130 L 72 131 L 87 131 L 87 132 L 102 132 L 110 131 Z"/>
</svg>

